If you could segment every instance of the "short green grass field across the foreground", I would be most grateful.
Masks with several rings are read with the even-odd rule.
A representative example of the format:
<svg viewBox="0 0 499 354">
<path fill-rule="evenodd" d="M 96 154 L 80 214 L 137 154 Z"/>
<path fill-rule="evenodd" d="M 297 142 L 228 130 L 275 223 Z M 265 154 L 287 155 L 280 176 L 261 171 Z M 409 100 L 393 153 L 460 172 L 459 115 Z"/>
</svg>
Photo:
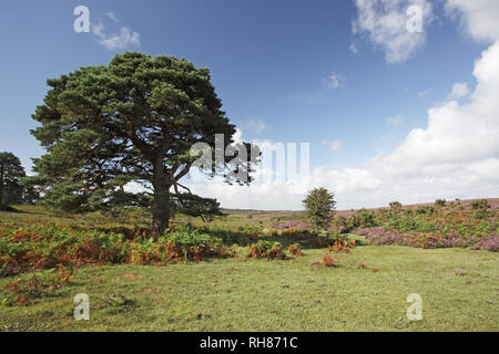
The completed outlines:
<svg viewBox="0 0 499 354">
<path fill-rule="evenodd" d="M 51 217 L 24 211 L 30 214 L 0 214 L 0 221 Z M 233 222 L 245 215 L 232 216 Z M 78 221 L 92 218 L 98 216 Z M 323 249 L 303 252 L 254 260 L 238 247 L 233 258 L 200 263 L 84 266 L 69 284 L 32 304 L 0 305 L 0 331 L 499 330 L 497 252 L 360 244 L 342 254 L 337 268 L 312 266 Z M 0 278 L 0 300 L 2 285 L 30 277 Z M 78 293 L 90 296 L 90 321 L 73 317 Z M 421 321 L 406 316 L 410 293 L 422 298 Z"/>
</svg>

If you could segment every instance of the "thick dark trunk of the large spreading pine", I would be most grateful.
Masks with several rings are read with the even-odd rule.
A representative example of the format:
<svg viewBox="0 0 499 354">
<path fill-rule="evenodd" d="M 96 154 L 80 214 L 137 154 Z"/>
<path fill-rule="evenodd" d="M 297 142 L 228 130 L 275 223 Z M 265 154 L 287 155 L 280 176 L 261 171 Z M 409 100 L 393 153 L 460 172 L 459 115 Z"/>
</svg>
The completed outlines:
<svg viewBox="0 0 499 354">
<path fill-rule="evenodd" d="M 159 173 L 154 178 L 153 235 L 162 236 L 170 222 L 170 180 L 166 174 Z"/>
</svg>

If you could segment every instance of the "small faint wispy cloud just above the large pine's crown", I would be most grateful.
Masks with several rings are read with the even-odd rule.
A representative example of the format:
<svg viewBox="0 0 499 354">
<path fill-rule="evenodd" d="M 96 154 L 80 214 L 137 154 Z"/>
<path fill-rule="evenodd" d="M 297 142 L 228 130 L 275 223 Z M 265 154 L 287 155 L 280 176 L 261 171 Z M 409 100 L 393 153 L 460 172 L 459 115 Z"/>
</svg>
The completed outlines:
<svg viewBox="0 0 499 354">
<path fill-rule="evenodd" d="M 116 19 L 113 12 L 108 12 L 106 17 L 110 18 L 114 23 L 120 22 L 120 20 Z M 119 34 L 108 34 L 104 32 L 104 24 L 102 23 L 102 21 L 100 21 L 92 24 L 92 33 L 98 37 L 99 44 L 105 46 L 109 50 L 141 45 L 140 33 L 132 31 L 128 27 L 122 27 L 119 31 Z"/>
</svg>

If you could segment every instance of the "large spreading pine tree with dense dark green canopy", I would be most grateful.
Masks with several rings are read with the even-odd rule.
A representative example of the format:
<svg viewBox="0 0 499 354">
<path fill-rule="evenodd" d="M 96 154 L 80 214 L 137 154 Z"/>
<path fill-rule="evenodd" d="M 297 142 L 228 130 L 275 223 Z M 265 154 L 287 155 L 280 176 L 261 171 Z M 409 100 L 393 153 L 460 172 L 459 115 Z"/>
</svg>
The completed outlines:
<svg viewBox="0 0 499 354">
<path fill-rule="evenodd" d="M 48 85 L 44 104 L 33 114 L 41 126 L 32 131 L 47 154 L 34 159 L 38 176 L 32 181 L 49 206 L 75 212 L 147 206 L 154 231 L 162 233 L 172 206 L 196 201 L 204 211 L 216 206 L 186 198 L 191 191 L 180 183 L 196 167 L 195 144 L 210 146 L 212 156 L 222 153 L 203 170 L 208 177 L 251 181 L 251 145 L 240 144 L 234 156 L 225 156 L 236 129 L 222 111 L 207 69 L 174 56 L 126 52 L 109 65 L 81 67 L 48 80 Z M 218 134 L 222 152 L 214 148 Z M 242 170 L 247 178 L 241 178 Z M 128 191 L 130 183 L 144 191 Z"/>
</svg>

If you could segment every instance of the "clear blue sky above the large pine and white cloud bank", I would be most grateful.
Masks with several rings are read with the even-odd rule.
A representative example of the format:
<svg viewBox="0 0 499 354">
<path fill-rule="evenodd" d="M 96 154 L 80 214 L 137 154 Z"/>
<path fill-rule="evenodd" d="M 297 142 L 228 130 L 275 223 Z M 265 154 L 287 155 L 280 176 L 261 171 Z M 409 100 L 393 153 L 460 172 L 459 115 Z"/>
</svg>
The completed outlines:
<svg viewBox="0 0 499 354">
<path fill-rule="evenodd" d="M 13 152 L 29 170 L 30 158 L 42 154 L 29 129 L 37 126 L 31 114 L 47 79 L 136 50 L 210 67 L 227 116 L 246 139 L 309 142 L 313 168 L 364 166 L 396 150 L 413 129 L 426 128 L 428 110 L 445 102 L 455 83 L 475 90 L 475 62 L 491 41 L 477 41 L 472 29 L 468 35 L 448 15 L 446 1 L 430 3 L 431 21 L 416 34 L 424 35 L 424 45 L 393 63 L 374 42 L 375 30 L 354 33 L 360 11 L 355 1 L 3 2 L 0 150 Z M 80 4 L 108 38 L 126 28 L 140 43 L 106 48 L 93 31 L 74 32 L 73 9 Z M 466 20 L 469 9 L 458 10 Z M 472 190 L 462 192 L 468 195 Z"/>
</svg>

